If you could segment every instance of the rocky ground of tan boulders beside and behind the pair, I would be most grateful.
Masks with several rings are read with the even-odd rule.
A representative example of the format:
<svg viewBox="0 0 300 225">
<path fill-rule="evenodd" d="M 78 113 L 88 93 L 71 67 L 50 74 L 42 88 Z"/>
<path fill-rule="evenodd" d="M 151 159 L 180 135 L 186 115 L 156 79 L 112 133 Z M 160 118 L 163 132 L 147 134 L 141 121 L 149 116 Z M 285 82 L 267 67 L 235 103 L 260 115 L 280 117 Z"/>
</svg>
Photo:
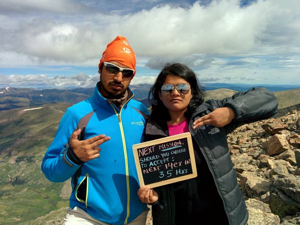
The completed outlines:
<svg viewBox="0 0 300 225">
<path fill-rule="evenodd" d="M 300 224 L 300 111 L 242 125 L 227 140 L 249 211 L 247 224 Z M 50 213 L 43 216 L 48 222 Z M 46 224 L 43 217 L 33 224 Z M 151 224 L 149 211 L 146 225 Z"/>
</svg>

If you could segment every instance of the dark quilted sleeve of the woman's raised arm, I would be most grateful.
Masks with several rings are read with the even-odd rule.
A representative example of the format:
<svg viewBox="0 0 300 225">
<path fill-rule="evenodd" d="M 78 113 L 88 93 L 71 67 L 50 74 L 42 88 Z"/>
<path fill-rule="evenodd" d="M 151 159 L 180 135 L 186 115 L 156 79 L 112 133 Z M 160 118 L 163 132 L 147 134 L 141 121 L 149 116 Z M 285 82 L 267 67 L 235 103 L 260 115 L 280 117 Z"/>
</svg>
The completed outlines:
<svg viewBox="0 0 300 225">
<path fill-rule="evenodd" d="M 278 111 L 276 96 L 264 87 L 237 92 L 222 100 L 208 100 L 212 108 L 230 107 L 234 111 L 233 120 L 226 126 L 230 132 L 239 125 L 269 118 Z"/>
</svg>

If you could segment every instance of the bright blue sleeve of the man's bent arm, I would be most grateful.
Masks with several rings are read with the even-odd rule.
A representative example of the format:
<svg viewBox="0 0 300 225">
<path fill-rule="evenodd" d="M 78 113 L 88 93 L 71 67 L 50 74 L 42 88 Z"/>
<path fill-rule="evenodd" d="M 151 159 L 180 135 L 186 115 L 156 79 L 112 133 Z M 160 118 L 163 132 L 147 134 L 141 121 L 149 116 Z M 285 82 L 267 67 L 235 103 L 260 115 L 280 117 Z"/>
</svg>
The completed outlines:
<svg viewBox="0 0 300 225">
<path fill-rule="evenodd" d="M 75 130 L 77 121 L 69 109 L 62 116 L 55 137 L 41 162 L 41 170 L 52 182 L 63 182 L 70 178 L 80 167 L 67 155 L 67 143 Z"/>
</svg>

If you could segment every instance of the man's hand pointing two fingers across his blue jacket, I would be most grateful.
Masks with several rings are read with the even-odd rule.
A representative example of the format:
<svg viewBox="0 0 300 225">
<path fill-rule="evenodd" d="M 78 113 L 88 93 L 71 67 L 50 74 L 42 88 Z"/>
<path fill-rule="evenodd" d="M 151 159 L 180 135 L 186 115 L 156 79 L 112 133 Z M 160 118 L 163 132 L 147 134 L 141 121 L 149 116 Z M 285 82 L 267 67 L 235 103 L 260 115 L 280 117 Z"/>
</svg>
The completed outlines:
<svg viewBox="0 0 300 225">
<path fill-rule="evenodd" d="M 79 128 L 75 130 L 70 137 L 70 145 L 76 156 L 84 162 L 99 157 L 100 147 L 98 147 L 98 145 L 109 140 L 110 137 L 105 136 L 105 134 L 100 134 L 86 140 L 78 140 L 77 137 L 80 132 L 81 129 Z"/>
</svg>

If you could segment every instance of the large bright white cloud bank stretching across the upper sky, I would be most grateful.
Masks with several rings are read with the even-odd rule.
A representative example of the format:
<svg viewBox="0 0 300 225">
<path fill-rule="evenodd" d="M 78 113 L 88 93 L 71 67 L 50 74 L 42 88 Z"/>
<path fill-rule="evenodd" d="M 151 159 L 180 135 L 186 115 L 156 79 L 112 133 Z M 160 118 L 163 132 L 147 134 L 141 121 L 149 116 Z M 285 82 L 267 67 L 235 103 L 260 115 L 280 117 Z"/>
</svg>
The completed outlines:
<svg viewBox="0 0 300 225">
<path fill-rule="evenodd" d="M 29 2 L 34 5 L 35 1 L 16 5 L 24 7 Z M 62 8 L 74 4 L 70 0 L 59 2 L 42 1 L 40 4 L 59 8 L 60 4 L 64 4 Z M 219 0 L 206 6 L 196 2 L 189 8 L 155 6 L 122 16 L 79 15 L 80 21 L 77 15 L 55 21 L 45 17 L 20 22 L 17 29 L 6 30 L 9 35 L 1 37 L 1 48 L 41 60 L 84 63 L 98 58 L 117 34 L 128 38 L 137 56 L 145 57 L 244 53 L 255 51 L 265 45 L 265 41 L 276 46 L 300 47 L 296 2 L 258 0 L 240 7 L 238 0 Z M 293 35 L 289 35 L 291 33 Z"/>
</svg>

